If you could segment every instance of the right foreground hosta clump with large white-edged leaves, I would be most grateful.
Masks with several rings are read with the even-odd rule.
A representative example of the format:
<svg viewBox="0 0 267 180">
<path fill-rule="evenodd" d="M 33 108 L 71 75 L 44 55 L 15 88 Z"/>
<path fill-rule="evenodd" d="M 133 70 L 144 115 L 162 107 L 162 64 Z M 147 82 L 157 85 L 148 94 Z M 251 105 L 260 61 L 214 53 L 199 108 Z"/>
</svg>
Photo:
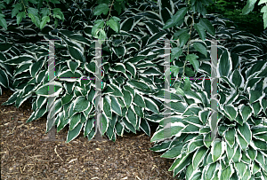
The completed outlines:
<svg viewBox="0 0 267 180">
<path fill-rule="evenodd" d="M 150 149 L 174 159 L 169 170 L 178 178 L 266 179 L 267 62 L 233 68 L 237 59 L 229 51 L 218 57 L 217 137 L 211 139 L 212 109 L 202 86 L 206 80 L 195 81 L 190 89 L 182 86 L 182 100 L 171 101 L 173 113 L 159 122 Z"/>
</svg>

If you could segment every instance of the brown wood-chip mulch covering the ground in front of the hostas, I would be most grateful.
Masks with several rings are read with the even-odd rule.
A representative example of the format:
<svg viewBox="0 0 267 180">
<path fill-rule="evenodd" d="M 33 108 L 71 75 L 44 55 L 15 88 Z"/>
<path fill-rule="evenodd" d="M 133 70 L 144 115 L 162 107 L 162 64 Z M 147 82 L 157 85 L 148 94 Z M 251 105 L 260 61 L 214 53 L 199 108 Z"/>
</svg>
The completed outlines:
<svg viewBox="0 0 267 180">
<path fill-rule="evenodd" d="M 3 90 L 0 105 L 12 95 Z M 46 114 L 26 123 L 32 113 L 27 100 L 19 108 L 0 106 L 1 179 L 128 179 L 171 180 L 174 160 L 160 158 L 144 132 L 125 133 L 112 141 L 88 141 L 83 133 L 66 144 L 68 128 L 56 134 L 62 141 L 41 141 Z M 151 132 L 151 136 L 153 135 Z M 108 137 L 102 137 L 108 139 Z"/>
</svg>

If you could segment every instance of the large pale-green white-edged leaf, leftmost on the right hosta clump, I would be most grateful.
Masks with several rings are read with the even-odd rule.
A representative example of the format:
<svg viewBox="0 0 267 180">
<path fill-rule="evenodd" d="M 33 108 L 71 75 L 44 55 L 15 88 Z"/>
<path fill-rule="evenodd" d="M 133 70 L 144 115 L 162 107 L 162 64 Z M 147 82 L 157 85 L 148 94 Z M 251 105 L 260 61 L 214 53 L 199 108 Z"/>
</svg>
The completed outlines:
<svg viewBox="0 0 267 180">
<path fill-rule="evenodd" d="M 151 137 L 150 142 L 166 139 L 168 137 L 173 137 L 174 135 L 179 137 L 181 135 L 181 130 L 184 128 L 182 122 L 174 122 L 170 128 L 160 129 L 156 131 Z"/>
</svg>

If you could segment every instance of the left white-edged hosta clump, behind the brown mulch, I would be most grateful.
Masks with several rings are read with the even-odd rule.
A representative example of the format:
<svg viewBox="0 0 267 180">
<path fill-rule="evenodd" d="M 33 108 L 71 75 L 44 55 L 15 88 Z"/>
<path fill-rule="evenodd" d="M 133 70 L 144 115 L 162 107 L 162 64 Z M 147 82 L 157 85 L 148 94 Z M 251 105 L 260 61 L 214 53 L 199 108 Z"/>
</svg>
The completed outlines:
<svg viewBox="0 0 267 180">
<path fill-rule="evenodd" d="M 122 13 L 119 17 L 120 33 L 117 34 L 112 27 L 106 27 L 109 42 L 101 45 L 101 134 L 106 133 L 113 141 L 117 135 L 122 136 L 124 131 L 135 133 L 136 130 L 143 130 L 150 136 L 149 121 L 157 121 L 155 117 L 158 116 L 155 113 L 162 109 L 161 102 L 153 98 L 154 94 L 162 93 L 164 82 L 160 77 L 163 69 L 161 64 L 164 62 L 164 41 L 160 42 L 158 39 L 166 37 L 169 32 L 163 30 L 164 21 L 158 13 L 152 11 L 150 4 L 135 4 L 128 12 Z M 157 6 L 154 8 L 157 11 Z M 90 12 L 88 15 L 91 21 L 88 23 L 88 17 L 80 13 L 83 19 L 74 20 L 80 9 L 72 10 L 70 8 L 66 12 L 66 25 L 62 24 L 61 28 L 55 30 L 46 26 L 42 34 L 46 40 L 61 40 L 55 42 L 55 76 L 88 77 L 87 80 L 55 80 L 54 93 L 51 95 L 48 91 L 51 85 L 47 68 L 48 42 L 19 45 L 11 43 L 1 53 L 1 75 L 4 76 L 1 82 L 4 87 L 15 91 L 4 105 L 15 104 L 18 107 L 28 98 L 32 98 L 34 112 L 28 122 L 44 116 L 45 113 L 50 117 L 54 116 L 55 121 L 47 118 L 46 131 L 53 124 L 56 124 L 58 131 L 69 125 L 67 142 L 81 132 L 89 139 L 95 135 L 95 82 L 89 78 L 95 76 L 96 66 L 91 22 L 98 20 L 98 17 Z M 68 28 L 72 31 L 67 30 Z M 21 51 L 13 50 L 17 46 Z M 12 70 L 9 71 L 9 67 Z M 49 114 L 50 96 L 55 97 L 55 114 Z"/>
</svg>

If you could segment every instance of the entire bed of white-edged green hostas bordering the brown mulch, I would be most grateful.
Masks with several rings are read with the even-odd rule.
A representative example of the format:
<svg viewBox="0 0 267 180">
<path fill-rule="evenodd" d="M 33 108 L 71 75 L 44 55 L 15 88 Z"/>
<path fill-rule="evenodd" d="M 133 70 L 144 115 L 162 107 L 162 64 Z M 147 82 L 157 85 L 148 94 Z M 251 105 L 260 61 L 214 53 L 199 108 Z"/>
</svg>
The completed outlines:
<svg viewBox="0 0 267 180">
<path fill-rule="evenodd" d="M 43 8 L 43 1 L 41 5 L 29 2 L 36 9 Z M 49 46 L 40 40 L 61 40 L 55 42 L 55 76 L 80 78 L 95 76 L 93 40 L 98 38 L 102 47 L 101 135 L 114 142 L 124 131 L 142 130 L 150 136 L 150 126 L 156 123 L 158 129 L 151 137 L 155 146 L 150 150 L 166 152 L 162 157 L 175 159 L 169 168 L 174 176 L 265 179 L 266 33 L 258 37 L 227 27 L 229 20 L 206 14 L 212 1 L 113 3 L 65 2 L 57 6 L 58 2 L 52 1 L 48 7 L 53 9 L 54 25 L 49 8 L 41 14 L 28 8 L 30 20 L 24 12 L 4 10 L 9 26 L 0 36 L 1 85 L 14 93 L 3 105 L 19 107 L 31 99 L 33 113 L 28 122 L 43 117 L 51 95 Z M 254 4 L 248 1 L 244 13 L 251 12 Z M 12 20 L 15 15 L 17 20 Z M 109 41 L 101 41 L 105 38 Z M 169 70 L 176 79 L 169 107 L 164 106 L 164 38 L 174 40 Z M 212 131 L 211 84 L 205 78 L 211 74 L 212 39 L 223 41 L 218 46 L 218 137 L 207 142 Z M 187 79 L 179 79 L 184 77 Z M 203 80 L 190 81 L 189 77 Z M 95 88 L 93 80 L 57 80 L 55 114 L 48 113 L 46 132 L 54 125 L 58 132 L 69 127 L 67 143 L 80 133 L 91 140 L 95 136 Z M 169 108 L 171 117 L 164 118 Z M 171 128 L 164 128 L 166 122 L 171 122 Z"/>
</svg>

